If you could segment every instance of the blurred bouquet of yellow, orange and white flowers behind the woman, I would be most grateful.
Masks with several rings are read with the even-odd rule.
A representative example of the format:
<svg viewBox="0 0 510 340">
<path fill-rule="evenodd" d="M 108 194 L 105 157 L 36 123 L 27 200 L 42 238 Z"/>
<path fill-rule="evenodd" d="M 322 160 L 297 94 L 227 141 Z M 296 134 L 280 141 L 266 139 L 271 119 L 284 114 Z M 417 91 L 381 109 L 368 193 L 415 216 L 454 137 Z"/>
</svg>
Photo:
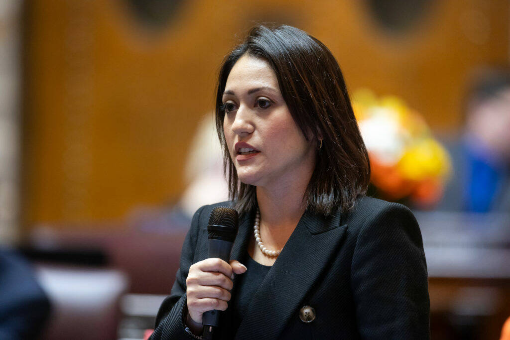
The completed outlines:
<svg viewBox="0 0 510 340">
<path fill-rule="evenodd" d="M 398 97 L 367 89 L 354 92 L 353 109 L 370 158 L 368 194 L 418 208 L 438 203 L 451 161 L 421 115 Z"/>
</svg>

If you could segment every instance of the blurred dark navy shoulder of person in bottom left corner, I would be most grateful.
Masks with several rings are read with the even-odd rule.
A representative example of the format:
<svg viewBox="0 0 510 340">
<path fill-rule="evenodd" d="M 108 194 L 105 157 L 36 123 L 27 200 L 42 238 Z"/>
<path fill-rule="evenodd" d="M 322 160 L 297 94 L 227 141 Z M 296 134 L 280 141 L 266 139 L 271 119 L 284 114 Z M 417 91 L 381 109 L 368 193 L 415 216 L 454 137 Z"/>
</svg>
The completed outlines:
<svg viewBox="0 0 510 340">
<path fill-rule="evenodd" d="M 28 261 L 0 249 L 0 339 L 37 338 L 49 311 L 48 298 Z"/>
</svg>

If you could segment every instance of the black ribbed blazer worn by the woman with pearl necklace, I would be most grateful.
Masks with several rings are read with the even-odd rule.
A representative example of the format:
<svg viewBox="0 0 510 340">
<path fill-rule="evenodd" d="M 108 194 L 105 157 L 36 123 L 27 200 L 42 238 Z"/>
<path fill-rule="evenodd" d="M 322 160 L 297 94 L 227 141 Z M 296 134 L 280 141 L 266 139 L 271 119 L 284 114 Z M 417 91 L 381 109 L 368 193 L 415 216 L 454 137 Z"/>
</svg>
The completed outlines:
<svg viewBox="0 0 510 340">
<path fill-rule="evenodd" d="M 202 206 L 193 217 L 152 339 L 191 338 L 182 321 L 186 277 L 192 264 L 208 257 L 207 224 L 218 205 L 225 203 Z M 241 263 L 253 237 L 253 216 L 240 216 L 231 259 Z M 315 309 L 310 323 L 299 318 L 305 305 Z M 228 333 L 227 312 L 219 338 Z M 428 339 L 429 314 L 427 267 L 415 217 L 404 205 L 362 196 L 349 213 L 303 214 L 254 293 L 235 338 Z"/>
</svg>

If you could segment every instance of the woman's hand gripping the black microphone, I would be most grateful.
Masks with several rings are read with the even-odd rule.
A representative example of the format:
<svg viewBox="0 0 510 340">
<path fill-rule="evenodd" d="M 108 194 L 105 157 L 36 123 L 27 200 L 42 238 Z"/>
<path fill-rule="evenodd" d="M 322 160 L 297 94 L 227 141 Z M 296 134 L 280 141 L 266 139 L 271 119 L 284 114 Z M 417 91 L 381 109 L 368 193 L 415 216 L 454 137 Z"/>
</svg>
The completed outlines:
<svg viewBox="0 0 510 340">
<path fill-rule="evenodd" d="M 207 258 L 190 267 L 186 278 L 188 312 L 196 324 L 208 310 L 225 310 L 232 297 L 234 274 L 242 274 L 246 267 L 237 260 L 227 264 L 220 258 Z"/>
</svg>

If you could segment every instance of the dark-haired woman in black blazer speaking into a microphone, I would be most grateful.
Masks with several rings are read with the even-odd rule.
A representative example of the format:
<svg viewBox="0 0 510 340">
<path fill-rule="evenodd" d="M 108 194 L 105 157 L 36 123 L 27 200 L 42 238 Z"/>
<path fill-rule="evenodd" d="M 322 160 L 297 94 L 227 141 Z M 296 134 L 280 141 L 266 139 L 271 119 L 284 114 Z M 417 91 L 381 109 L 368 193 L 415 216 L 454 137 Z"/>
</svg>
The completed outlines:
<svg viewBox="0 0 510 340">
<path fill-rule="evenodd" d="M 221 339 L 428 338 L 418 224 L 364 196 L 368 154 L 327 47 L 253 28 L 220 69 L 216 123 L 232 201 L 195 213 L 152 338 L 197 337 L 211 309 Z M 230 264 L 207 258 L 225 204 L 240 214 Z"/>
</svg>

